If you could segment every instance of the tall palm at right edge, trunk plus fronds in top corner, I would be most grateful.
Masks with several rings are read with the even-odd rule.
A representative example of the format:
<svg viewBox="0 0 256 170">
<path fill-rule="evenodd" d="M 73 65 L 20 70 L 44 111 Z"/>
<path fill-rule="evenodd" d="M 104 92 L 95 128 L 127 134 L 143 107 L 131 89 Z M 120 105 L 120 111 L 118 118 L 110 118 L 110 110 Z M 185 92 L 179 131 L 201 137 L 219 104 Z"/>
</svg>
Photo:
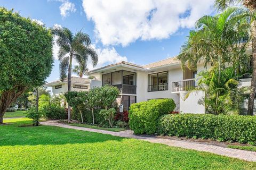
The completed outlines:
<svg viewBox="0 0 256 170">
<path fill-rule="evenodd" d="M 251 13 L 254 13 L 254 17 L 252 18 L 252 81 L 251 81 L 251 92 L 248 101 L 248 115 L 253 115 L 253 105 L 255 98 L 255 90 L 256 90 L 256 21 L 255 21 L 255 11 L 256 11 L 256 2 L 255 0 L 215 0 L 215 6 L 219 10 L 224 10 L 227 7 L 234 5 L 235 3 L 243 3 L 243 5 L 250 10 Z"/>
</svg>

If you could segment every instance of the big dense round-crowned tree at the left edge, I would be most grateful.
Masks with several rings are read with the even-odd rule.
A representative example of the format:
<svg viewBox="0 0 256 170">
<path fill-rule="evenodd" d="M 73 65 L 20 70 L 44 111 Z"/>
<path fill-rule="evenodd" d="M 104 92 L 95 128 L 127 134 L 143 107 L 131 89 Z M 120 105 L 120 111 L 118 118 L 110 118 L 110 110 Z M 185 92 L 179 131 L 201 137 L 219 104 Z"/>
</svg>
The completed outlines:
<svg viewBox="0 0 256 170">
<path fill-rule="evenodd" d="M 51 31 L 0 7 L 0 123 L 24 91 L 45 83 L 52 64 Z"/>
</svg>

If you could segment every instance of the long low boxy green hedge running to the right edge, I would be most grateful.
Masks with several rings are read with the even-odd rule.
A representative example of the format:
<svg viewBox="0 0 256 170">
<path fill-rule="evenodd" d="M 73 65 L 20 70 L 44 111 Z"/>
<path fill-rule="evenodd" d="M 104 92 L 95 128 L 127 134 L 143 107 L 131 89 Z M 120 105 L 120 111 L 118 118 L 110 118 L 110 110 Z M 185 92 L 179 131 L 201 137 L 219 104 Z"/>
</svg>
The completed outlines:
<svg viewBox="0 0 256 170">
<path fill-rule="evenodd" d="M 256 142 L 256 116 L 172 114 L 159 118 L 157 126 L 161 135 Z"/>
</svg>

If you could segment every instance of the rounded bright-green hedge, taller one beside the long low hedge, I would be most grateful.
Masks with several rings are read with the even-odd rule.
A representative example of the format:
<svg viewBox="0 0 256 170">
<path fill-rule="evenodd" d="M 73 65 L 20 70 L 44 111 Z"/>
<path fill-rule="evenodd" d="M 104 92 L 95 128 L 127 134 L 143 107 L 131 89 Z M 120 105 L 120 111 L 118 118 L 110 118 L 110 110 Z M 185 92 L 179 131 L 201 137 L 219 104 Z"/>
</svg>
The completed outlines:
<svg viewBox="0 0 256 170">
<path fill-rule="evenodd" d="M 176 107 L 173 99 L 153 99 L 130 106 L 129 124 L 136 134 L 154 134 L 159 116 L 170 113 Z"/>
</svg>

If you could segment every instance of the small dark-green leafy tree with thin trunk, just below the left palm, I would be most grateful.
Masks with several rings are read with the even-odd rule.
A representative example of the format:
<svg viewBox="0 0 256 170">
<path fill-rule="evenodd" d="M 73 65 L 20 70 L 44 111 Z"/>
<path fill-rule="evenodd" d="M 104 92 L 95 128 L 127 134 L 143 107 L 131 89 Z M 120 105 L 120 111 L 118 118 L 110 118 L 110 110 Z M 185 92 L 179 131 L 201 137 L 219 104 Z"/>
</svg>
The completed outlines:
<svg viewBox="0 0 256 170">
<path fill-rule="evenodd" d="M 65 97 L 68 101 L 68 104 L 71 107 L 76 107 L 81 115 L 82 123 L 84 123 L 83 120 L 83 108 L 86 108 L 87 106 L 87 100 L 88 100 L 88 92 L 87 91 L 68 91 L 65 93 Z"/>
</svg>

